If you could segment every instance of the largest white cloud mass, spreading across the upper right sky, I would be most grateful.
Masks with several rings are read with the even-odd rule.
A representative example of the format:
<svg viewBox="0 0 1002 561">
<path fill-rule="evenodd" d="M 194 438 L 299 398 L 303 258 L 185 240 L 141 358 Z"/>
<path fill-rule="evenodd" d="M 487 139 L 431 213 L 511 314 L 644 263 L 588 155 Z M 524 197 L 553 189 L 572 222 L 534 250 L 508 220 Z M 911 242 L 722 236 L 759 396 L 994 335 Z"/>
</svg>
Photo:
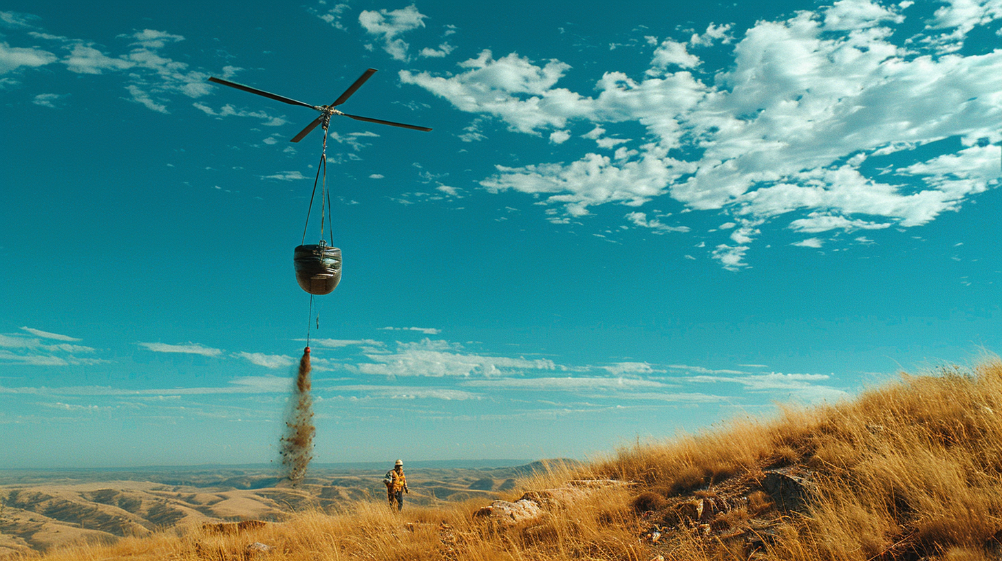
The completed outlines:
<svg viewBox="0 0 1002 561">
<path fill-rule="evenodd" d="M 743 254 L 767 223 L 805 232 L 912 227 L 998 186 L 1002 49 L 941 56 L 937 44 L 922 46 L 922 33 L 895 33 L 904 7 L 841 0 L 759 21 L 712 83 L 663 72 L 698 59 L 684 44 L 656 38 L 645 79 L 607 71 L 594 97 L 558 87 L 567 64 L 516 53 L 495 59 L 483 51 L 460 63 L 459 73 L 402 71 L 401 79 L 553 143 L 569 138 L 572 120 L 593 130 L 639 123 L 645 143 L 622 142 L 615 158 L 588 153 L 570 162 L 498 165 L 481 184 L 562 205 L 563 215 L 547 214 L 553 222 L 570 222 L 592 205 L 640 206 L 663 195 L 687 209 L 722 211 L 746 220 L 730 233 L 734 244 L 713 251 L 735 269 L 746 266 Z M 997 0 L 951 0 L 930 27 L 966 33 L 999 17 Z M 710 25 L 689 44 L 723 44 L 729 31 Z M 960 138 L 964 148 L 865 171 L 873 158 L 947 138 Z"/>
</svg>

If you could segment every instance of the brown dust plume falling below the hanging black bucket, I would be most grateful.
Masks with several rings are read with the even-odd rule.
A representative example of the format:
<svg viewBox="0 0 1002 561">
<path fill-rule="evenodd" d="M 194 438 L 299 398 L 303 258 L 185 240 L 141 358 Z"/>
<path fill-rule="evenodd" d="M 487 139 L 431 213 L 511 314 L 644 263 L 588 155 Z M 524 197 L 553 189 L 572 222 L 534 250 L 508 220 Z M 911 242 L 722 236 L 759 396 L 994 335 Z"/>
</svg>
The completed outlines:
<svg viewBox="0 0 1002 561">
<path fill-rule="evenodd" d="M 310 396 L 310 348 L 303 351 L 293 388 L 291 407 L 286 415 L 286 436 L 282 438 L 284 477 L 294 486 L 303 482 L 313 459 L 313 398 Z"/>
</svg>

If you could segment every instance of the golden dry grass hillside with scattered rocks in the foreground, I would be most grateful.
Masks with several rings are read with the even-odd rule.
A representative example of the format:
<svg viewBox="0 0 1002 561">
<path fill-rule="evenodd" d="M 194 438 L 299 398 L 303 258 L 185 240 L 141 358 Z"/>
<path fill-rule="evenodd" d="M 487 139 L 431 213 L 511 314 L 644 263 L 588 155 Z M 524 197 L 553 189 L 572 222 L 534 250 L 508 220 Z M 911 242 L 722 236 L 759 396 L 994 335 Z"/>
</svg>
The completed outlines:
<svg viewBox="0 0 1002 561">
<path fill-rule="evenodd" d="M 508 498 L 571 480 L 628 483 L 548 503 L 520 522 L 475 516 L 483 500 L 403 513 L 362 501 L 231 534 L 180 528 L 42 557 L 1002 559 L 1002 364 L 903 375 L 852 402 L 551 468 Z"/>
</svg>

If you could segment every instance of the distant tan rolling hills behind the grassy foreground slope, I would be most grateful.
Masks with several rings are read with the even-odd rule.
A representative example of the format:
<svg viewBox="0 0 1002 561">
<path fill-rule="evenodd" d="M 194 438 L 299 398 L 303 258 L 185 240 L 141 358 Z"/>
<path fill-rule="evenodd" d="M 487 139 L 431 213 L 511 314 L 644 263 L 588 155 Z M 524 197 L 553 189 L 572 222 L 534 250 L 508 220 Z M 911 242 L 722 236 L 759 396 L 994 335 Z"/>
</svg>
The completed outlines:
<svg viewBox="0 0 1002 561">
<path fill-rule="evenodd" d="M 542 468 L 526 462 L 409 462 L 407 503 L 496 499 L 497 492 L 514 487 L 515 478 Z M 0 557 L 79 541 L 111 543 L 178 524 L 277 521 L 307 509 L 385 500 L 382 479 L 390 467 L 322 464 L 312 467 L 310 477 L 297 488 L 284 483 L 267 464 L 0 471 Z"/>
</svg>

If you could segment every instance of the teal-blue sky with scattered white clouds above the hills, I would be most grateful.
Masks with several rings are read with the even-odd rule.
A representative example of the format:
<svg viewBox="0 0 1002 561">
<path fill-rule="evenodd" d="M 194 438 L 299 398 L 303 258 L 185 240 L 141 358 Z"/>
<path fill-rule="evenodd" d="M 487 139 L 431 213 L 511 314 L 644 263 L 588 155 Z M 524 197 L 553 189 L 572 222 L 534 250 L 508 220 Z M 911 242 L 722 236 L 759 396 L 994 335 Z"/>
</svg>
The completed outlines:
<svg viewBox="0 0 1002 561">
<path fill-rule="evenodd" d="M 999 0 L 0 6 L 4 467 L 583 458 L 1002 349 Z M 698 4 L 698 5 L 697 5 Z M 319 237 L 311 222 L 308 242 Z"/>
</svg>

